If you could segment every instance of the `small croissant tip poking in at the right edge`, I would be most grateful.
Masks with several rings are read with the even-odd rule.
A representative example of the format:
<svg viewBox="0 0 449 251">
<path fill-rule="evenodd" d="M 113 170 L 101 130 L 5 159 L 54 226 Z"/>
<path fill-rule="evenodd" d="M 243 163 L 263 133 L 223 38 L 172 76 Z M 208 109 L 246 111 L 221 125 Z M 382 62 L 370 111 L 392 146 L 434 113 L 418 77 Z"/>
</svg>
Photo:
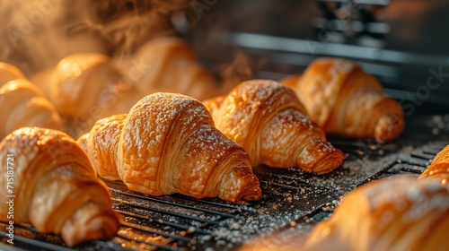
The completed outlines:
<svg viewBox="0 0 449 251">
<path fill-rule="evenodd" d="M 432 164 L 419 177 L 435 178 L 449 186 L 449 145 L 436 154 Z"/>
</svg>

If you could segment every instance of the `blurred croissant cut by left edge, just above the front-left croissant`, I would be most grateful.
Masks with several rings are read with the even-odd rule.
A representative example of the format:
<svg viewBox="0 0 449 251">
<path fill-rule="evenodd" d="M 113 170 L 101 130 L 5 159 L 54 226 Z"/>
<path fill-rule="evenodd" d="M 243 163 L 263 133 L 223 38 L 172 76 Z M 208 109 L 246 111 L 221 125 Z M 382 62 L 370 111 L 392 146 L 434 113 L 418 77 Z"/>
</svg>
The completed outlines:
<svg viewBox="0 0 449 251">
<path fill-rule="evenodd" d="M 40 89 L 24 78 L 0 86 L 0 139 L 22 126 L 62 130 L 56 108 Z"/>
</svg>

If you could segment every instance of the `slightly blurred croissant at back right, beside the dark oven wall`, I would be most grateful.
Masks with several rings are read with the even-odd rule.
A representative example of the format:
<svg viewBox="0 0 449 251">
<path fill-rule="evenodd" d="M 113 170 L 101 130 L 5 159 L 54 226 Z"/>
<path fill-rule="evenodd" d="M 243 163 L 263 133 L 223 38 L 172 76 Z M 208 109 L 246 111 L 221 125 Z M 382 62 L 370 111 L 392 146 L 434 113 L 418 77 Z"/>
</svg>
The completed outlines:
<svg viewBox="0 0 449 251">
<path fill-rule="evenodd" d="M 286 84 L 291 86 L 293 78 Z M 385 97 L 382 85 L 355 62 L 316 59 L 296 77 L 294 91 L 311 119 L 328 134 L 374 136 L 384 143 L 396 139 L 404 129 L 399 102 Z"/>
</svg>

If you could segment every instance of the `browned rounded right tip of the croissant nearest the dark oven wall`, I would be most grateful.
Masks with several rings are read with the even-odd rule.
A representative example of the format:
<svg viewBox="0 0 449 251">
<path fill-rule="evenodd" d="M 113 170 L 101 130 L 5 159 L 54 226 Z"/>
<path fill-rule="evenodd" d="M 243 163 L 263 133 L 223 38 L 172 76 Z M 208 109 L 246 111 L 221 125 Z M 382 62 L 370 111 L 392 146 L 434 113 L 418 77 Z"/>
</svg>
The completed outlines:
<svg viewBox="0 0 449 251">
<path fill-rule="evenodd" d="M 399 137 L 404 130 L 404 118 L 399 115 L 381 117 L 374 127 L 374 139 L 386 143 Z"/>
</svg>

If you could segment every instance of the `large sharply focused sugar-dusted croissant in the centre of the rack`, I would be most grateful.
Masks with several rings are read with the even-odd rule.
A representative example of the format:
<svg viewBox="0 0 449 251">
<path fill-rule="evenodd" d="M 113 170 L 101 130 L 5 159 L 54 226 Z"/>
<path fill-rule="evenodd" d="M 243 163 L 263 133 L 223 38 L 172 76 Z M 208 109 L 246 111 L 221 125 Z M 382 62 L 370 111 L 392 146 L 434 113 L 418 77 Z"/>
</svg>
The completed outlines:
<svg viewBox="0 0 449 251">
<path fill-rule="evenodd" d="M 78 143 L 100 176 L 121 179 L 132 191 L 228 202 L 261 197 L 248 153 L 220 133 L 207 109 L 188 96 L 148 95 L 128 115 L 97 121 Z"/>
</svg>

